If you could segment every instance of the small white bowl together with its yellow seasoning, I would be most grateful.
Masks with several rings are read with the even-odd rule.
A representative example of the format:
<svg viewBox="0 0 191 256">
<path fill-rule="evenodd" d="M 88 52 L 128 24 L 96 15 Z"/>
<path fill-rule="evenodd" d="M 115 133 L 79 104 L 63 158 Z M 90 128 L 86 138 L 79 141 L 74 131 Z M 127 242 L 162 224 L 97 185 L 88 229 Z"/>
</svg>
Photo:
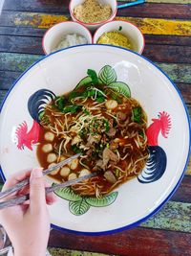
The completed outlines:
<svg viewBox="0 0 191 256">
<path fill-rule="evenodd" d="M 127 21 L 111 21 L 96 30 L 93 38 L 95 44 L 111 44 L 123 47 L 138 54 L 144 49 L 144 36 L 138 27 Z"/>
</svg>

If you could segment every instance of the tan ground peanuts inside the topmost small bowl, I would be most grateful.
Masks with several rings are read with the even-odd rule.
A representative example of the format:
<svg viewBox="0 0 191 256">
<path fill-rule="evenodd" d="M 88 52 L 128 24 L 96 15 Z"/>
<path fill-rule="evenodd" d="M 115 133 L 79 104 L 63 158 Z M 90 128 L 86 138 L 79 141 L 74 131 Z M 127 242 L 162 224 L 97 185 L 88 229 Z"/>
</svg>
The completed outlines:
<svg viewBox="0 0 191 256">
<path fill-rule="evenodd" d="M 112 15 L 110 5 L 101 5 L 97 0 L 85 0 L 83 4 L 74 8 L 76 19 L 84 23 L 96 23 L 109 19 Z"/>
</svg>

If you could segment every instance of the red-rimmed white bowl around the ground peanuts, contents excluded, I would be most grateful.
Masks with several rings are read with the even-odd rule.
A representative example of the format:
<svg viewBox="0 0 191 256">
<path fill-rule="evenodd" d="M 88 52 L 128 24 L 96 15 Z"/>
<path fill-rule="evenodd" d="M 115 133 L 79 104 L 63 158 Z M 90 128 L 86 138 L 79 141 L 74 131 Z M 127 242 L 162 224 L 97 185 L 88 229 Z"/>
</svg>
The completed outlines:
<svg viewBox="0 0 191 256">
<path fill-rule="evenodd" d="M 71 0 L 70 5 L 69 5 L 69 11 L 71 13 L 71 17 L 74 21 L 86 26 L 89 30 L 95 31 L 98 27 L 101 25 L 107 23 L 108 21 L 112 21 L 116 15 L 117 15 L 117 0 L 99 0 L 101 4 L 104 5 L 110 5 L 112 8 L 112 15 L 110 16 L 109 19 L 101 21 L 101 22 L 96 22 L 96 23 L 84 23 L 74 16 L 74 8 L 80 4 L 84 3 L 84 0 Z"/>
</svg>

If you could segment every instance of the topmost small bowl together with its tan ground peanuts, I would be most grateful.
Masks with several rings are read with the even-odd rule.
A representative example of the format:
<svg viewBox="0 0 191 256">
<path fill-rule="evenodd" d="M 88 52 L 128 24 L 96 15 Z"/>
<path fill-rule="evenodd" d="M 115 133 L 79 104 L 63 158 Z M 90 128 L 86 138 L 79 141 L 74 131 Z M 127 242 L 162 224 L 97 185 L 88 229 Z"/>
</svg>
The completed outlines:
<svg viewBox="0 0 191 256">
<path fill-rule="evenodd" d="M 71 0 L 69 10 L 74 21 L 94 31 L 116 17 L 117 0 Z"/>
</svg>

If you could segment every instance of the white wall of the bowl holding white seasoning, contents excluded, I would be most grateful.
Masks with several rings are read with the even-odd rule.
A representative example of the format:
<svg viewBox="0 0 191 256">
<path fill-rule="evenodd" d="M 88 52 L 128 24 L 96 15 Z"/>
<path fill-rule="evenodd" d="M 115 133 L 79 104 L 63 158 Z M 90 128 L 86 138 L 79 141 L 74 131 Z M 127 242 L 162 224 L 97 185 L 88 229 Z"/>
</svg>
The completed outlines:
<svg viewBox="0 0 191 256">
<path fill-rule="evenodd" d="M 63 35 L 68 34 L 82 35 L 87 39 L 87 44 L 93 43 L 92 35 L 86 27 L 74 21 L 64 21 L 54 25 L 43 36 L 42 48 L 45 55 L 51 54 Z"/>
</svg>

